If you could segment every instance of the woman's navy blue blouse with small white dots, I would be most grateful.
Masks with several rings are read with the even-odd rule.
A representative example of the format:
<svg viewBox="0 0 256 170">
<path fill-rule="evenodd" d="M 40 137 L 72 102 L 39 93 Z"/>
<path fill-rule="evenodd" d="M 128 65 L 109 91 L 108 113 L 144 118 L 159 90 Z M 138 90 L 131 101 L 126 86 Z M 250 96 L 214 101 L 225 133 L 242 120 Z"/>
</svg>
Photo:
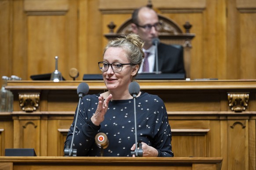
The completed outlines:
<svg viewBox="0 0 256 170">
<path fill-rule="evenodd" d="M 109 140 L 109 146 L 104 149 L 103 156 L 132 156 L 131 147 L 135 144 L 134 100 L 110 101 L 104 121 L 100 126 L 96 126 L 91 122 L 91 116 L 97 109 L 98 96 L 84 96 L 80 103 L 73 149 L 77 149 L 77 156 L 100 156 L 100 148 L 95 144 L 95 135 L 103 132 Z M 136 121 L 138 141 L 142 140 L 157 149 L 158 156 L 173 156 L 171 127 L 162 99 L 146 92 L 137 97 Z M 74 123 L 73 120 L 65 146 L 71 143 Z"/>
</svg>

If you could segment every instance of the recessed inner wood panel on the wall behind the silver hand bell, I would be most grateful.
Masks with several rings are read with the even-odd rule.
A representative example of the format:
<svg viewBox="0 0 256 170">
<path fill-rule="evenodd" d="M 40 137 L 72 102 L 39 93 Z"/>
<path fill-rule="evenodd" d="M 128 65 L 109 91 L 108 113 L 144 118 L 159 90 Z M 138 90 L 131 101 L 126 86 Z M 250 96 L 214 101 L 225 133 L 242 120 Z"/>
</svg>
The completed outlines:
<svg viewBox="0 0 256 170">
<path fill-rule="evenodd" d="M 39 19 L 40 18 L 40 19 Z M 28 73 L 51 73 L 55 70 L 55 56 L 59 57 L 58 70 L 68 71 L 65 43 L 64 16 L 28 17 Z M 27 75 L 30 76 L 29 74 Z"/>
</svg>

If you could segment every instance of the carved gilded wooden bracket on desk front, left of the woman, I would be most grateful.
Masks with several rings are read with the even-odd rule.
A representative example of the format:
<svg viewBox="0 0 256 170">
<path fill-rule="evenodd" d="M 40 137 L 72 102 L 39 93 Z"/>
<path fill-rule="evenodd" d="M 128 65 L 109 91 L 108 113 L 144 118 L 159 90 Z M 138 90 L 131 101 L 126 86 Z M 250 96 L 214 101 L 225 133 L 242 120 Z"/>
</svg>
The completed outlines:
<svg viewBox="0 0 256 170">
<path fill-rule="evenodd" d="M 39 106 L 39 93 L 20 93 L 18 95 L 19 106 L 25 112 L 36 111 Z"/>
</svg>

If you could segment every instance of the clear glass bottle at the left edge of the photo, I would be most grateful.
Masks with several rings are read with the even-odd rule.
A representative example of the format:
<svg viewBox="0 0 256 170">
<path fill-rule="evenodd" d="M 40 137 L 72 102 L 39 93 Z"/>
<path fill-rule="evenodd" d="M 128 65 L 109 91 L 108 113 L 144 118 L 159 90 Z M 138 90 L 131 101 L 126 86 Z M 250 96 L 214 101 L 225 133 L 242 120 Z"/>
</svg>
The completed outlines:
<svg viewBox="0 0 256 170">
<path fill-rule="evenodd" d="M 7 85 L 7 76 L 2 77 L 2 88 L 0 90 L 0 112 L 12 112 L 13 94 L 10 90 L 5 89 Z"/>
</svg>

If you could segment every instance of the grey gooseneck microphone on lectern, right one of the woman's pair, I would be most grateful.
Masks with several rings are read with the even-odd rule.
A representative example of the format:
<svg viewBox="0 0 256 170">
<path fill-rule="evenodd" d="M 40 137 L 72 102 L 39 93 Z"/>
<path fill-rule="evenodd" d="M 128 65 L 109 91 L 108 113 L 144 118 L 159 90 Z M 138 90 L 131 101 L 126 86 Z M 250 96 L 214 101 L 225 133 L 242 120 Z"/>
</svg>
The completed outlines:
<svg viewBox="0 0 256 170">
<path fill-rule="evenodd" d="M 132 81 L 129 84 L 129 93 L 130 95 L 133 97 L 133 104 L 134 104 L 134 126 L 135 126 L 135 144 L 137 145 L 137 122 L 136 122 L 136 97 L 139 94 L 140 91 L 140 87 L 139 87 L 139 83 Z M 135 151 L 131 151 L 132 155 L 135 156 L 143 156 L 143 150 L 142 150 L 142 145 L 141 142 L 139 143 L 139 149 L 137 146 L 135 146 Z"/>
</svg>

